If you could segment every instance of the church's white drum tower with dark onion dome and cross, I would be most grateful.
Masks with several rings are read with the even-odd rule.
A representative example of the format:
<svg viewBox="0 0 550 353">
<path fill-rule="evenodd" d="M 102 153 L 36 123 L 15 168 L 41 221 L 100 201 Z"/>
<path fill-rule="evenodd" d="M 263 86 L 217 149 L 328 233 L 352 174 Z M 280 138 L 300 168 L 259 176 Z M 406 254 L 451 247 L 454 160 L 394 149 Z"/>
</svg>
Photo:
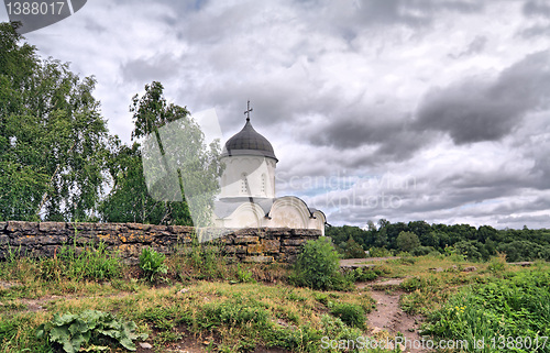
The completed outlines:
<svg viewBox="0 0 550 353">
<path fill-rule="evenodd" d="M 275 167 L 273 146 L 250 122 L 248 102 L 244 128 L 226 142 L 221 154 L 226 169 L 221 177 L 220 199 L 274 198 Z"/>
</svg>

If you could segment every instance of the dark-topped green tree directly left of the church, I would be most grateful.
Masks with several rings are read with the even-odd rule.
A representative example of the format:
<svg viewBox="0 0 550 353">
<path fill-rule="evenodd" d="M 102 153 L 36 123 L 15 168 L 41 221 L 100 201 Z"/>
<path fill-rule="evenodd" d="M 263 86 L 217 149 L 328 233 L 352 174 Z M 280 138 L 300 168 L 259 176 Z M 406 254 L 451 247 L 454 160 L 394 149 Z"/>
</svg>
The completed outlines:
<svg viewBox="0 0 550 353">
<path fill-rule="evenodd" d="M 189 205 L 185 201 L 193 199 L 190 206 L 198 222 L 195 225 L 209 225 L 219 189 L 218 177 L 222 173 L 219 141 L 206 146 L 205 135 L 189 111 L 168 103 L 163 91 L 162 84 L 153 81 L 145 86 L 142 97 L 135 95 L 132 99 L 132 139 L 142 139 L 142 144 L 128 147 L 116 141 L 109 163 L 114 186 L 101 205 L 102 219 L 193 225 Z M 152 153 L 151 148 L 156 152 Z M 166 175 L 166 170 L 177 170 L 177 175 Z M 177 178 L 175 189 L 173 178 Z"/>
</svg>

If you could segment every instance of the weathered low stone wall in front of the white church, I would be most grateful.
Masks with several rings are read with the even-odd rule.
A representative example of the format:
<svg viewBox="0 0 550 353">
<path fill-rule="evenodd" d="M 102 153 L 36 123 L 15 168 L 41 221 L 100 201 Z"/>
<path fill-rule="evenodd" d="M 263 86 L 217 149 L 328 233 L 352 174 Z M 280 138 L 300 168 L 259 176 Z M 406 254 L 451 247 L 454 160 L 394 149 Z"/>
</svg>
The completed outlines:
<svg viewBox="0 0 550 353">
<path fill-rule="evenodd" d="M 125 262 L 135 263 L 144 246 L 167 255 L 176 249 L 189 249 L 193 231 L 190 227 L 139 223 L 0 222 L 0 258 L 10 253 L 51 257 L 63 245 L 82 249 L 103 242 L 109 250 L 119 251 Z M 301 244 L 320 235 L 319 230 L 311 229 L 249 228 L 217 242 L 222 254 L 238 261 L 292 263 Z"/>
</svg>

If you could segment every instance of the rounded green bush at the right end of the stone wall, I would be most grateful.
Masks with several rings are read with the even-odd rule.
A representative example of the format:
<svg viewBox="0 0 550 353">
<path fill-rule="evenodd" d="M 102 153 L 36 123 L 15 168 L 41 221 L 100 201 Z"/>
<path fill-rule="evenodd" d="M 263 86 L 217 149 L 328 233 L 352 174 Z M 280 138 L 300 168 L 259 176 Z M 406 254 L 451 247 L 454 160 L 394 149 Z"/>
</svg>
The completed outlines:
<svg viewBox="0 0 550 353">
<path fill-rule="evenodd" d="M 308 241 L 296 260 L 290 282 L 312 289 L 342 289 L 348 283 L 339 272 L 340 256 L 329 238 Z"/>
</svg>

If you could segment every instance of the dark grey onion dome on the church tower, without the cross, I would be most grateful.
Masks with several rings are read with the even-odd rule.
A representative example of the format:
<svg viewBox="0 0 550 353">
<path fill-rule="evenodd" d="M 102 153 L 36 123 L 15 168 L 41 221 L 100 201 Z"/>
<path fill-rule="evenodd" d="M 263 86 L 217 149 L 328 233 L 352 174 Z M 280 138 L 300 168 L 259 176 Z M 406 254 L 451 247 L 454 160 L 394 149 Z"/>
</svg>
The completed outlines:
<svg viewBox="0 0 550 353">
<path fill-rule="evenodd" d="M 252 128 L 250 120 L 246 119 L 244 128 L 226 142 L 226 146 L 223 147 L 223 153 L 221 155 L 233 156 L 251 154 L 271 157 L 278 162 L 270 141 L 258 134 L 254 128 Z"/>
</svg>

